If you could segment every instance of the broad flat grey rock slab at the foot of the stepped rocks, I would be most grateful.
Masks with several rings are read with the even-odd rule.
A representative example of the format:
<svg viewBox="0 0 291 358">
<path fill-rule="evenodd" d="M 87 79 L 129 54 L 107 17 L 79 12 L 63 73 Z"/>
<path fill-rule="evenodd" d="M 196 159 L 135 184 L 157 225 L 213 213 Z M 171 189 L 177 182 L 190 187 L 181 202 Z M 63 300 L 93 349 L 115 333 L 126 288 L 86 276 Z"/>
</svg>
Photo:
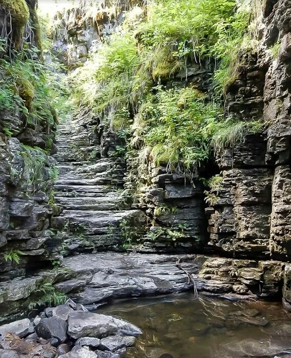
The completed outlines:
<svg viewBox="0 0 291 358">
<path fill-rule="evenodd" d="M 73 296 L 82 304 L 112 298 L 183 292 L 193 287 L 193 284 L 189 283 L 185 272 L 176 267 L 179 259 L 187 272 L 197 274 L 207 257 L 113 252 L 78 255 L 64 259 L 63 266 L 70 271 L 71 279 L 57 286 L 69 293 L 70 288 L 76 287 L 78 280 L 83 282 L 86 279 L 87 289 Z M 89 280 L 88 275 L 91 275 Z"/>
</svg>

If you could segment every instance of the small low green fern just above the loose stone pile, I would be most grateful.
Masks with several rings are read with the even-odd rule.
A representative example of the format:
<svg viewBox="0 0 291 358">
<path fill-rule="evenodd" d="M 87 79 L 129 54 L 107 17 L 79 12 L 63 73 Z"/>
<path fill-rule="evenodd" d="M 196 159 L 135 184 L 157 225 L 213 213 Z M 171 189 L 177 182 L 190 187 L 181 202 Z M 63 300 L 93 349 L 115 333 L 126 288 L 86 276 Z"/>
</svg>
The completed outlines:
<svg viewBox="0 0 291 358">
<path fill-rule="evenodd" d="M 35 290 L 35 294 L 39 296 L 39 299 L 36 302 L 31 302 L 29 308 L 34 308 L 36 305 L 58 306 L 67 300 L 66 295 L 59 292 L 52 283 L 44 283 Z"/>
</svg>

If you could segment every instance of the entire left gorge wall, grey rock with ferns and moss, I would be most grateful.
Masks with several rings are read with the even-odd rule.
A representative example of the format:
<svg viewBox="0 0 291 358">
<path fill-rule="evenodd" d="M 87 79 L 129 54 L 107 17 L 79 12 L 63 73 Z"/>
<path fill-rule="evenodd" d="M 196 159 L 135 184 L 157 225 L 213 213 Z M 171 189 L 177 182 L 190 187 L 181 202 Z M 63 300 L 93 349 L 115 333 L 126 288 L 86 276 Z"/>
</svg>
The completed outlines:
<svg viewBox="0 0 291 358">
<path fill-rule="evenodd" d="M 57 118 L 38 92 L 45 83 L 38 77 L 42 68 L 35 3 L 0 5 L 1 311 L 7 306 L 17 311 L 22 304 L 18 300 L 36 287 L 36 280 L 26 277 L 61 257 L 49 229 Z"/>
</svg>

